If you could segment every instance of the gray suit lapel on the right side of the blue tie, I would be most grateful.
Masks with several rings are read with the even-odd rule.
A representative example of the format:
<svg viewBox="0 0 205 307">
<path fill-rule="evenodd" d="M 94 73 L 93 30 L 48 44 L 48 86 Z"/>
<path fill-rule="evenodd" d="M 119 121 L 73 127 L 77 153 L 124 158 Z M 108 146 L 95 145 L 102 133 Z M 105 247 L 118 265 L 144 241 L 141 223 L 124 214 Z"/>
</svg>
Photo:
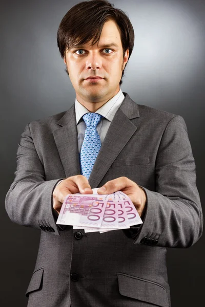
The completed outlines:
<svg viewBox="0 0 205 307">
<path fill-rule="evenodd" d="M 125 99 L 110 124 L 90 174 L 89 183 L 92 188 L 98 186 L 122 148 L 137 130 L 130 119 L 139 117 L 138 106 L 127 93 L 124 95 Z"/>
</svg>

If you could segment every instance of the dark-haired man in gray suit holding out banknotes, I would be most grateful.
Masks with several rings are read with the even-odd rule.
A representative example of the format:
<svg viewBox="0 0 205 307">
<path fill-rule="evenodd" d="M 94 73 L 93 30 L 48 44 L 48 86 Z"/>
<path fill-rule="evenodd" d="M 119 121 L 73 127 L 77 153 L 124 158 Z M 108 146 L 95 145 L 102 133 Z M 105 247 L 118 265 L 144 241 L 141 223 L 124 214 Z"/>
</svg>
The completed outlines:
<svg viewBox="0 0 205 307">
<path fill-rule="evenodd" d="M 28 306 L 168 307 L 166 247 L 190 247 L 202 234 L 185 121 L 121 92 L 134 31 L 109 2 L 71 8 L 57 40 L 75 104 L 26 126 L 6 196 L 13 222 L 42 230 Z M 56 225 L 68 193 L 96 187 L 125 192 L 143 224 L 102 234 Z"/>
</svg>

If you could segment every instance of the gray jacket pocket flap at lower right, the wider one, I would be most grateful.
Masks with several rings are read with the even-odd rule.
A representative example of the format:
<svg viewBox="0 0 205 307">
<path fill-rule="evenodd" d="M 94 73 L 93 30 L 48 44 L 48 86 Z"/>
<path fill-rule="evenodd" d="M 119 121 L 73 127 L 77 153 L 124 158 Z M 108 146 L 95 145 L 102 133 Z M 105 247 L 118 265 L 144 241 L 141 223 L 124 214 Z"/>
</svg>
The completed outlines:
<svg viewBox="0 0 205 307">
<path fill-rule="evenodd" d="M 140 301 L 169 307 L 166 289 L 159 283 L 124 273 L 117 273 L 119 293 Z"/>
</svg>

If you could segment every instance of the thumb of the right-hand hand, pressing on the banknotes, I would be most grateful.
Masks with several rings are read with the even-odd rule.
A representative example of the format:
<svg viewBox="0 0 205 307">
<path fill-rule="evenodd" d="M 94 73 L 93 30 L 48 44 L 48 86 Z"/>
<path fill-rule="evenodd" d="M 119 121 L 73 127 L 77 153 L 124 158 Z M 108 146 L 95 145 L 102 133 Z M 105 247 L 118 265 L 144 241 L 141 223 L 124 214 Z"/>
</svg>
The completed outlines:
<svg viewBox="0 0 205 307">
<path fill-rule="evenodd" d="M 132 181 L 127 177 L 119 177 L 113 180 L 108 181 L 104 186 L 100 187 L 97 190 L 99 194 L 112 194 L 116 191 L 125 189 L 126 187 L 131 186 Z"/>
</svg>

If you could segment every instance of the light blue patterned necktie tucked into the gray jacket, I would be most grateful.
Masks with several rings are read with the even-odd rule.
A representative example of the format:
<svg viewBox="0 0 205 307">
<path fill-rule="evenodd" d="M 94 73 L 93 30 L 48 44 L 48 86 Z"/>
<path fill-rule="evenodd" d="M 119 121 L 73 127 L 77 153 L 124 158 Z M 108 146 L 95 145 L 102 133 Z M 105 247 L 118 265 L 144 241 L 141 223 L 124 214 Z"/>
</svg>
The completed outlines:
<svg viewBox="0 0 205 307">
<path fill-rule="evenodd" d="M 100 137 L 96 129 L 101 117 L 102 116 L 97 113 L 87 113 L 83 116 L 86 123 L 86 131 L 79 158 L 80 173 L 87 179 L 90 177 L 90 173 L 101 147 Z"/>
</svg>

